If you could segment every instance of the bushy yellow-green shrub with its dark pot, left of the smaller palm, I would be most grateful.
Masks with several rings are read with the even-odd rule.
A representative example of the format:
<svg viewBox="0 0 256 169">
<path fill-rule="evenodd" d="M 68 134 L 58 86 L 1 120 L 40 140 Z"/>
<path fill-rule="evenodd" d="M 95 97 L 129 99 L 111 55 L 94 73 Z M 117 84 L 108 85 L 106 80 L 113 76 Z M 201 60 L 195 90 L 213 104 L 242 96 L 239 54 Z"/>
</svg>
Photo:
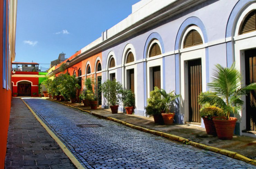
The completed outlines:
<svg viewBox="0 0 256 169">
<path fill-rule="evenodd" d="M 163 124 L 164 120 L 161 115 L 164 107 L 159 104 L 161 101 L 161 94 L 158 92 L 158 88 L 155 87 L 153 91 L 150 91 L 149 98 L 147 99 L 147 106 L 144 107 L 147 116 L 153 116 L 154 122 Z"/>
</svg>

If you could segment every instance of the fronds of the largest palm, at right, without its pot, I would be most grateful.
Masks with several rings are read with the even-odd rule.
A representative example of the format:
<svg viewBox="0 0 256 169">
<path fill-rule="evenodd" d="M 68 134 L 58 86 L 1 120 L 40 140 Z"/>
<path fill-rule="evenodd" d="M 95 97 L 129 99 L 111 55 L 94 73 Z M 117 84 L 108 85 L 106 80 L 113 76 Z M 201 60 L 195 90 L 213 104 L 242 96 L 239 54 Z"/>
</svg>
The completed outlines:
<svg viewBox="0 0 256 169">
<path fill-rule="evenodd" d="M 215 103 L 223 110 L 229 119 L 230 113 L 238 113 L 243 105 L 241 96 L 250 90 L 256 90 L 256 83 L 241 87 L 241 74 L 235 69 L 235 63 L 230 68 L 224 68 L 217 64 L 213 69 L 212 82 L 208 83 L 210 93 L 204 92 L 199 95 L 198 103 Z"/>
</svg>

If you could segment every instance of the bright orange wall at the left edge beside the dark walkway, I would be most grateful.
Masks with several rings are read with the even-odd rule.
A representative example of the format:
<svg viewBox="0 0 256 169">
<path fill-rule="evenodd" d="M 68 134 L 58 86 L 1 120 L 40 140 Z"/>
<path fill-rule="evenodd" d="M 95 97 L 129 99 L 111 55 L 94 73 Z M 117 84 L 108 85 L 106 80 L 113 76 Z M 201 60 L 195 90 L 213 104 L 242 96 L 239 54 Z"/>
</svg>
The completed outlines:
<svg viewBox="0 0 256 169">
<path fill-rule="evenodd" d="M 8 1 L 7 1 L 8 2 Z M 8 6 L 8 5 L 7 5 Z M 9 118 L 11 110 L 11 90 L 3 89 L 3 78 L 2 78 L 2 69 L 3 69 L 3 0 L 0 0 L 0 168 L 4 168 L 4 160 L 6 155 L 6 145 L 7 145 L 7 133 L 9 127 Z M 7 10 L 6 10 L 7 11 Z M 6 32 L 4 32 L 6 33 Z M 7 43 L 7 42 L 6 42 Z M 6 50 L 6 49 L 4 49 Z M 7 75 L 9 76 L 9 75 Z"/>
</svg>

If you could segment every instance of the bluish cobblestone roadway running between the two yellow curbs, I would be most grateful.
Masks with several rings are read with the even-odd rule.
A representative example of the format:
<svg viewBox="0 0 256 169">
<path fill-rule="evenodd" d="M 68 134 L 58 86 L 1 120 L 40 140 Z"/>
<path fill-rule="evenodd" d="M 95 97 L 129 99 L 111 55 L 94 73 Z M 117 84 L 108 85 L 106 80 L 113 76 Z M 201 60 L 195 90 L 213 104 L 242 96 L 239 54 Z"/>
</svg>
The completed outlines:
<svg viewBox="0 0 256 169">
<path fill-rule="evenodd" d="M 87 168 L 254 168 L 43 99 L 25 99 Z M 78 127 L 97 124 L 101 127 Z"/>
</svg>

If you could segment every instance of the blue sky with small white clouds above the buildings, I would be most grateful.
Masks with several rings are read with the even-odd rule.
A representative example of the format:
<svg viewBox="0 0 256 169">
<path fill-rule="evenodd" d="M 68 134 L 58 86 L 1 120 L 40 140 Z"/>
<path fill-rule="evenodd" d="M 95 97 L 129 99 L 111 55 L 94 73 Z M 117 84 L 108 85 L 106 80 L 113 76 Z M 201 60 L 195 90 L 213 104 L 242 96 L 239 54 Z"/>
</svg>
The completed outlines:
<svg viewBox="0 0 256 169">
<path fill-rule="evenodd" d="M 18 0 L 15 61 L 48 68 L 59 53 L 72 56 L 125 19 L 138 1 Z"/>
</svg>

